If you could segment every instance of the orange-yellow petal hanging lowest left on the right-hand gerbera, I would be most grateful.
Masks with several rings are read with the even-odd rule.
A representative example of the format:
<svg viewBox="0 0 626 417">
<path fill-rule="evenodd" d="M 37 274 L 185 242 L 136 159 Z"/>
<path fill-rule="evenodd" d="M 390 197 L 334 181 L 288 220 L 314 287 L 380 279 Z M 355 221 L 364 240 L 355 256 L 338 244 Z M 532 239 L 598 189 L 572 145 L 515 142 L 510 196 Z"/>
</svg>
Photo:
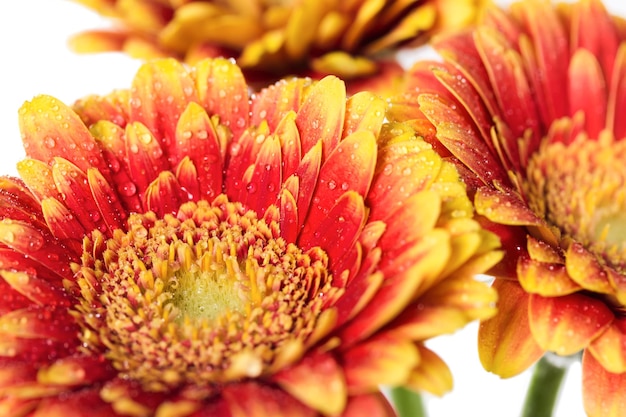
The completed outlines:
<svg viewBox="0 0 626 417">
<path fill-rule="evenodd" d="M 478 355 L 483 367 L 502 378 L 526 370 L 543 355 L 530 333 L 529 295 L 514 281 L 497 279 L 498 313 L 480 323 Z"/>
</svg>

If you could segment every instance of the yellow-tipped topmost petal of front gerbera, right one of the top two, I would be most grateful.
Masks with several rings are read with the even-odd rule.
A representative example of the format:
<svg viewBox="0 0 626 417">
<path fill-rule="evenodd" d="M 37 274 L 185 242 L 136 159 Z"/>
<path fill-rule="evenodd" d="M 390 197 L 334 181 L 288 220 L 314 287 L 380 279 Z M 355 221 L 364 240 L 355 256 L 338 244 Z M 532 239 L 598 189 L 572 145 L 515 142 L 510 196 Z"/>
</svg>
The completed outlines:
<svg viewBox="0 0 626 417">
<path fill-rule="evenodd" d="M 225 58 L 201 61 L 194 73 L 198 98 L 209 116 L 220 118 L 235 140 L 250 125 L 248 85 L 241 70 Z"/>
</svg>

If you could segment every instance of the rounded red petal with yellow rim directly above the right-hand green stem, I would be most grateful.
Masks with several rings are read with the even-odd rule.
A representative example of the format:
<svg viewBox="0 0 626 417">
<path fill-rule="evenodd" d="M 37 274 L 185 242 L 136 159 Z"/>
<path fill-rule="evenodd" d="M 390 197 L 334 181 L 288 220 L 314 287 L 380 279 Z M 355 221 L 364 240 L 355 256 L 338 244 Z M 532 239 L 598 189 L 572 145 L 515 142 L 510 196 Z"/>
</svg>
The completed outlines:
<svg viewBox="0 0 626 417">
<path fill-rule="evenodd" d="M 563 356 L 589 346 L 614 320 L 604 301 L 581 293 L 551 298 L 531 294 L 528 317 L 539 346 Z"/>
</svg>

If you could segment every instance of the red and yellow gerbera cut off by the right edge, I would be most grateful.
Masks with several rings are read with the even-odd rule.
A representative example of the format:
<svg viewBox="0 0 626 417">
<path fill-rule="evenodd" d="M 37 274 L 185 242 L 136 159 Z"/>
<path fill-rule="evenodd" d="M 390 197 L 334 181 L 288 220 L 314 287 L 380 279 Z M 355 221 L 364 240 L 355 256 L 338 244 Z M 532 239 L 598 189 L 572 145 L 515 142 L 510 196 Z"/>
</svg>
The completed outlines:
<svg viewBox="0 0 626 417">
<path fill-rule="evenodd" d="M 434 42 L 444 62 L 418 63 L 390 113 L 436 127 L 507 246 L 483 365 L 583 350 L 591 416 L 626 415 L 625 40 L 600 1 L 493 8 Z"/>
</svg>

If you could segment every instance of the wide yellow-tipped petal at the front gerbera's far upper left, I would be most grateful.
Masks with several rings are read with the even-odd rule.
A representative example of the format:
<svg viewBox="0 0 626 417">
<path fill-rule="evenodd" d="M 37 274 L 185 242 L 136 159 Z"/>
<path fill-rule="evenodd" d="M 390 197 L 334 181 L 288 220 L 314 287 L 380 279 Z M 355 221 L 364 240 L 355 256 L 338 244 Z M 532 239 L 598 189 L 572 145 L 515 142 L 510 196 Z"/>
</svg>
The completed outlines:
<svg viewBox="0 0 626 417">
<path fill-rule="evenodd" d="M 51 164 L 65 158 L 79 169 L 100 169 L 109 175 L 100 148 L 80 117 L 50 96 L 37 96 L 19 111 L 26 155 Z"/>
</svg>

